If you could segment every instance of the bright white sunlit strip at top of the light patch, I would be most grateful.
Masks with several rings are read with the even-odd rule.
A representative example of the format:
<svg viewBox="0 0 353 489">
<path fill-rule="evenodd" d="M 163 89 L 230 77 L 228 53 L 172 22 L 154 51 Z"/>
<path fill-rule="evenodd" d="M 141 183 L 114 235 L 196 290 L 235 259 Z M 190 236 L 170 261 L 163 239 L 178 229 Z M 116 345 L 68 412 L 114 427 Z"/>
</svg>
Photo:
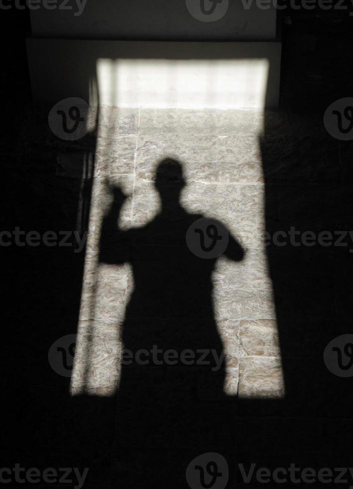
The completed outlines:
<svg viewBox="0 0 353 489">
<path fill-rule="evenodd" d="M 101 105 L 263 108 L 267 59 L 99 59 Z"/>
</svg>

